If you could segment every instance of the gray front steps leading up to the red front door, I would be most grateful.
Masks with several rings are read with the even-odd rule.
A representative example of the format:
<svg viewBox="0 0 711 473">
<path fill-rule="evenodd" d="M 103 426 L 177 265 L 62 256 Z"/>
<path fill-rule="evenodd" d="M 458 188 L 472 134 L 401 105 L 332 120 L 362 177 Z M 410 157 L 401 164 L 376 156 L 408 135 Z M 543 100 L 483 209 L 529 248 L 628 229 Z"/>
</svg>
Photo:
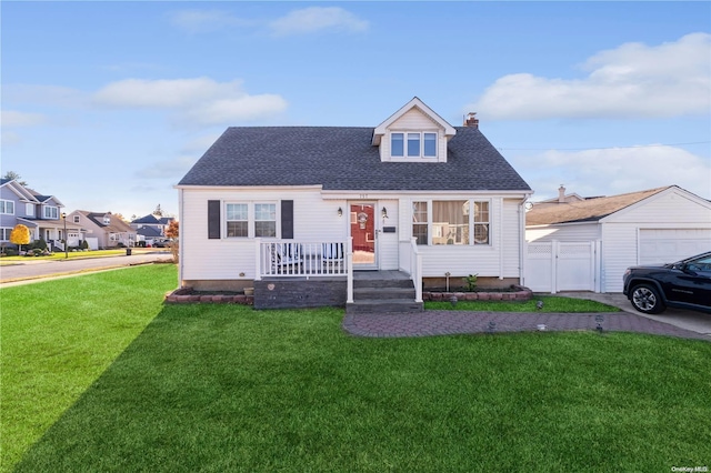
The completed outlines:
<svg viewBox="0 0 711 473">
<path fill-rule="evenodd" d="M 414 302 L 414 285 L 400 271 L 353 273 L 353 303 L 347 313 L 421 312 L 422 302 Z"/>
</svg>

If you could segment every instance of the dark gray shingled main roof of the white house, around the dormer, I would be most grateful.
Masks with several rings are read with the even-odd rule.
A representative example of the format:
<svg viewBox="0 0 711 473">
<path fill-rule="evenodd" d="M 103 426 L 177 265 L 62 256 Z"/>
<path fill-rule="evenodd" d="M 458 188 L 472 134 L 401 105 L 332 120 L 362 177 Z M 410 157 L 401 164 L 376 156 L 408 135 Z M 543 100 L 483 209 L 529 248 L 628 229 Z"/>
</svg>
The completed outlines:
<svg viewBox="0 0 711 473">
<path fill-rule="evenodd" d="M 381 162 L 373 128 L 229 128 L 179 185 L 310 185 L 324 190 L 531 188 L 475 128 L 459 127 L 447 163 Z"/>
</svg>

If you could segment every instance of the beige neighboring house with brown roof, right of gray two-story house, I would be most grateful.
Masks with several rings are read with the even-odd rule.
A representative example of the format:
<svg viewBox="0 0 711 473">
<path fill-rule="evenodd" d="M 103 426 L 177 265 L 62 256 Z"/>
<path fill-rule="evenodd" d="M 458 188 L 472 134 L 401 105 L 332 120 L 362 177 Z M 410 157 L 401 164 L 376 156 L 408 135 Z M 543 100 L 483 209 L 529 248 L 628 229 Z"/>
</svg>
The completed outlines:
<svg viewBox="0 0 711 473">
<path fill-rule="evenodd" d="M 67 221 L 86 229 L 84 238 L 92 249 L 136 244 L 136 230 L 111 212 L 76 210 L 67 215 Z"/>
</svg>

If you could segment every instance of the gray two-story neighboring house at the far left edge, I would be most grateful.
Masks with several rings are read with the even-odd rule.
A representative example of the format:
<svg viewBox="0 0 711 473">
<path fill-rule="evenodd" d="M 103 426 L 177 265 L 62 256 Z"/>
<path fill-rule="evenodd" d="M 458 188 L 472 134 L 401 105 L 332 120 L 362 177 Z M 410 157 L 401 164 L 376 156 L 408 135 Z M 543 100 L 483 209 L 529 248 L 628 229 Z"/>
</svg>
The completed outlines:
<svg viewBox="0 0 711 473">
<path fill-rule="evenodd" d="M 42 195 L 16 180 L 0 180 L 0 244 L 10 245 L 10 232 L 17 224 L 30 229 L 32 241 L 63 250 L 81 239 L 81 227 L 62 220 L 64 205 L 53 195 Z"/>
</svg>

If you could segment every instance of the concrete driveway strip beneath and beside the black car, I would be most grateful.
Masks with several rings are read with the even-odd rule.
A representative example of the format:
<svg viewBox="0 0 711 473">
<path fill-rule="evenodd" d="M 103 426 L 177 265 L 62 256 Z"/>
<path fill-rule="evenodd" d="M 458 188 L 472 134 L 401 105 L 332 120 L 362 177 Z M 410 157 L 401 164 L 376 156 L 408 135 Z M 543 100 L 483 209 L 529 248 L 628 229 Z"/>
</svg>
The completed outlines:
<svg viewBox="0 0 711 473">
<path fill-rule="evenodd" d="M 684 330 L 691 330 L 697 333 L 703 333 L 711 336 L 711 314 L 695 311 L 687 311 L 683 309 L 668 308 L 661 314 L 643 314 L 632 308 L 632 304 L 621 292 L 595 293 L 595 292 L 560 292 L 555 295 L 563 298 L 589 299 L 591 301 L 602 302 L 608 305 L 620 308 L 625 312 L 641 315 L 658 322 L 669 323 Z"/>
</svg>

